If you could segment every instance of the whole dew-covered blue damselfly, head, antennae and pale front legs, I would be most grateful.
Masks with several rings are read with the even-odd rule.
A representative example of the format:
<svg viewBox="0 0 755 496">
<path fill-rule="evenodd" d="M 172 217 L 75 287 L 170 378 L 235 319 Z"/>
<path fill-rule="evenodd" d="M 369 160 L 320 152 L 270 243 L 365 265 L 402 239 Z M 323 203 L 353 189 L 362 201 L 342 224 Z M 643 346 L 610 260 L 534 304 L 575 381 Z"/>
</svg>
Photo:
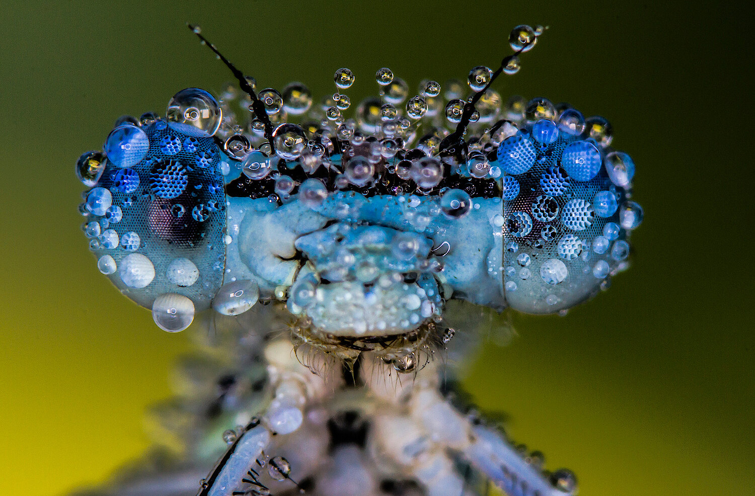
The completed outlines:
<svg viewBox="0 0 755 496">
<path fill-rule="evenodd" d="M 502 107 L 491 88 L 540 32 L 517 26 L 516 53 L 497 71 L 472 69 L 468 98 L 454 82 L 444 94 L 423 82 L 410 98 L 379 69 L 381 95 L 353 118 L 349 69 L 313 107 L 300 83 L 257 92 L 211 45 L 251 112 L 233 112 L 233 89 L 217 100 L 188 88 L 165 118 L 119 119 L 103 152 L 79 159 L 100 271 L 166 331 L 210 307 L 219 328 L 236 322 L 223 365 L 234 372 L 217 371 L 220 398 L 194 398 L 214 408 L 194 409 L 205 411 L 194 428 L 247 427 L 223 436 L 230 448 L 199 494 L 458 496 L 484 479 L 510 494 L 575 491 L 572 474 L 543 472 L 539 455 L 461 414 L 430 361 L 455 334 L 450 300 L 564 312 L 627 266 L 643 211 L 609 122 L 543 98 Z M 285 316 L 289 332 L 260 339 L 263 319 Z M 421 380 L 396 384 L 425 365 Z M 189 437 L 187 467 L 221 451 Z"/>
</svg>

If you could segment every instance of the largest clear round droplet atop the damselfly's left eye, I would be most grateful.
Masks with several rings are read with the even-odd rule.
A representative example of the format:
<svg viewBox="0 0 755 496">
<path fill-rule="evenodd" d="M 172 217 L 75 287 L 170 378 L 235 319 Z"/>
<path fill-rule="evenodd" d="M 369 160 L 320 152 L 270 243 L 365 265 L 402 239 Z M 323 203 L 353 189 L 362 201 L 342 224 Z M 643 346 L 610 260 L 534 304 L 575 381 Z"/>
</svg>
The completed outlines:
<svg viewBox="0 0 755 496">
<path fill-rule="evenodd" d="M 223 110 L 208 91 L 186 88 L 171 98 L 165 116 L 177 125 L 177 131 L 190 136 L 212 136 L 223 120 Z"/>
</svg>

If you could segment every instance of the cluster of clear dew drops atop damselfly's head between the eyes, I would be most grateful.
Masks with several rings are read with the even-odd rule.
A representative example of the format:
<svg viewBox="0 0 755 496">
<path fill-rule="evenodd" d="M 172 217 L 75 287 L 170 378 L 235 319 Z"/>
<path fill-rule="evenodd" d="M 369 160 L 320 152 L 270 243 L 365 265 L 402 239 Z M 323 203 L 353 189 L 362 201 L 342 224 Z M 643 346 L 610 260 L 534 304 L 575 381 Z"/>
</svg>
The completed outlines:
<svg viewBox="0 0 755 496">
<path fill-rule="evenodd" d="M 543 31 L 543 26 L 516 26 L 510 46 L 515 52 L 529 51 Z M 514 74 L 519 67 L 519 57 L 509 57 L 503 72 Z M 495 149 L 516 134 L 526 112 L 536 112 L 544 101 L 512 97 L 504 104 L 497 91 L 485 90 L 493 75 L 493 69 L 476 66 L 467 76 L 468 89 L 458 80 L 445 85 L 424 80 L 411 95 L 407 82 L 382 67 L 375 73 L 377 96 L 362 100 L 356 109 L 347 94 L 356 75 L 347 68 L 335 71 L 335 91 L 319 104 L 313 104 L 309 88 L 300 82 L 282 91 L 258 89 L 247 76 L 265 119 L 254 112 L 251 97 L 229 84 L 220 94 L 223 119 L 215 135 L 248 178 L 244 193 L 229 194 L 285 202 L 300 193 L 300 201 L 315 206 L 328 193 L 344 189 L 365 195 L 449 193 L 454 198 L 442 202 L 448 204 L 443 210 L 459 217 L 472 203 L 458 186 L 444 187 L 444 177 L 498 180 L 502 171 L 495 165 Z M 461 122 L 465 104 L 483 90 L 469 119 L 467 155 L 441 159 L 442 139 Z M 271 134 L 266 134 L 266 119 L 274 129 Z M 282 167 L 282 161 L 295 162 L 304 174 L 292 174 L 295 167 Z M 387 188 L 389 183 L 393 187 Z"/>
</svg>

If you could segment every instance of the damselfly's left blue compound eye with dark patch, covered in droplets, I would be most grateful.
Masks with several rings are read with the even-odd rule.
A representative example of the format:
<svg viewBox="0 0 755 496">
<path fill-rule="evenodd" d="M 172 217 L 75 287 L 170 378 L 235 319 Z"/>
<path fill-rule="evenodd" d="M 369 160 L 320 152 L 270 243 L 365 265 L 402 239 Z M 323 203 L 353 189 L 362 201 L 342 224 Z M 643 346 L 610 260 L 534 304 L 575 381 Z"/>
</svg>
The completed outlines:
<svg viewBox="0 0 755 496">
<path fill-rule="evenodd" d="M 208 106 L 199 116 L 211 115 Z M 79 161 L 88 160 L 86 179 L 94 186 L 81 210 L 100 271 L 143 307 L 170 303 L 174 313 L 162 309 L 167 317 L 156 316 L 168 331 L 182 330 L 191 322 L 187 314 L 208 308 L 223 280 L 222 155 L 211 135 L 194 124 L 120 125 L 108 137 L 107 160 L 94 185 L 91 157 Z"/>
</svg>

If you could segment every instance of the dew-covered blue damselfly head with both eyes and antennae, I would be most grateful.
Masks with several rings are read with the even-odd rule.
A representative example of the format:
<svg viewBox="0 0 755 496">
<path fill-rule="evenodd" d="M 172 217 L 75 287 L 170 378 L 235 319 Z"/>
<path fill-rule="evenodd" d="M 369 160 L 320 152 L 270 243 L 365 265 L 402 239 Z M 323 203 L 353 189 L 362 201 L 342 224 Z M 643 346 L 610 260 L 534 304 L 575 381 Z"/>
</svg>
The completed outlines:
<svg viewBox="0 0 755 496">
<path fill-rule="evenodd" d="M 257 94 L 240 77 L 245 98 L 189 88 L 165 118 L 122 119 L 77 168 L 100 271 L 166 331 L 280 301 L 301 339 L 336 347 L 439 338 L 452 298 L 568 310 L 627 266 L 634 165 L 606 119 L 501 106 L 490 85 L 518 67 L 474 68 L 468 98 L 436 82 L 408 98 L 383 68 L 353 118 L 339 69 L 315 108 L 300 83 Z"/>
</svg>

